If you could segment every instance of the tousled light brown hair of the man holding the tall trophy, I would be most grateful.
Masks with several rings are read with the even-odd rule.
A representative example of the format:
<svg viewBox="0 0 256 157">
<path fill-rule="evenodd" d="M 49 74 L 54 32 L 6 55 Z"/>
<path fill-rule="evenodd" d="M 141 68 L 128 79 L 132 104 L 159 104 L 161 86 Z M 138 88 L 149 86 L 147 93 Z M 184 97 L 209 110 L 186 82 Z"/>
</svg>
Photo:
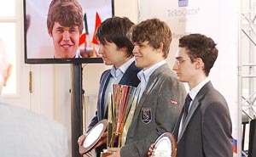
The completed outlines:
<svg viewBox="0 0 256 157">
<path fill-rule="evenodd" d="M 170 27 L 159 19 L 144 20 L 132 27 L 132 42 L 148 42 L 153 48 L 160 48 L 163 44 L 164 58 L 168 57 L 172 42 L 172 31 Z"/>
</svg>

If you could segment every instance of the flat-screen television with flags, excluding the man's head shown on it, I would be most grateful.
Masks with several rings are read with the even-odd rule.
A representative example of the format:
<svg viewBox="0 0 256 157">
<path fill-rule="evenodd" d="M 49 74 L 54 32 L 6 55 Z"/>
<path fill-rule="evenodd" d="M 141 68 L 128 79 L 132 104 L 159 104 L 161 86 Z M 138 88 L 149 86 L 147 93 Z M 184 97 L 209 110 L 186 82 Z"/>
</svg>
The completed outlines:
<svg viewBox="0 0 256 157">
<path fill-rule="evenodd" d="M 102 63 L 95 38 L 96 27 L 113 16 L 113 0 L 77 0 L 83 10 L 84 29 L 79 34 L 75 57 L 55 57 L 53 37 L 49 35 L 47 15 L 52 0 L 23 0 L 26 64 Z M 67 10 L 67 9 L 66 9 Z M 69 32 L 69 31 L 68 31 Z M 71 45 L 72 46 L 72 45 Z M 67 48 L 68 49 L 68 48 Z"/>
</svg>

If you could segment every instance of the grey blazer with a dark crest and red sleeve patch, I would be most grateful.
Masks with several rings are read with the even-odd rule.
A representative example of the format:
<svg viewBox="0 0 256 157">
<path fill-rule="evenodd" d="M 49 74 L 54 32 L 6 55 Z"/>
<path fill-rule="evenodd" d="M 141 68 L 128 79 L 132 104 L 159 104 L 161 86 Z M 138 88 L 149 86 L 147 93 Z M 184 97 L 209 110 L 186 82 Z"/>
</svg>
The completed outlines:
<svg viewBox="0 0 256 157">
<path fill-rule="evenodd" d="M 183 83 L 167 64 L 153 72 L 137 104 L 122 157 L 148 156 L 148 148 L 163 132 L 172 132 L 185 98 Z"/>
</svg>

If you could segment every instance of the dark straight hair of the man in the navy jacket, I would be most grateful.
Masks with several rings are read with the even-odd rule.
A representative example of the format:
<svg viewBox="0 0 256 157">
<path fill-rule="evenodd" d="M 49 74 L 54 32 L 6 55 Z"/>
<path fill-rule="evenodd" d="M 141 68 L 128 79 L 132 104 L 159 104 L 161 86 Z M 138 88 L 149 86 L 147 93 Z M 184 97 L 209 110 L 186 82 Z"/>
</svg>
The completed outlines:
<svg viewBox="0 0 256 157">
<path fill-rule="evenodd" d="M 126 57 L 130 57 L 133 55 L 134 47 L 127 33 L 131 30 L 132 25 L 134 23 L 126 17 L 108 18 L 97 28 L 96 39 L 102 44 L 113 42 L 118 48 L 127 48 Z"/>
</svg>

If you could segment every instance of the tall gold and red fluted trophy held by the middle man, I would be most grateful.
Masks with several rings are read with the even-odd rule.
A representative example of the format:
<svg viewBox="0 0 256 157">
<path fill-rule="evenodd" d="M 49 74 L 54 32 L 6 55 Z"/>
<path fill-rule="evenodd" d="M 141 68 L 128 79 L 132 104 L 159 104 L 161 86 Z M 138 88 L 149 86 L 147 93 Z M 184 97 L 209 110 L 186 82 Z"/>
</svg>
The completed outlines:
<svg viewBox="0 0 256 157">
<path fill-rule="evenodd" d="M 113 84 L 112 93 L 108 93 L 108 148 L 121 148 L 125 144 L 137 104 L 136 90 L 137 87 Z M 107 150 L 101 156 L 109 154 Z"/>
</svg>

